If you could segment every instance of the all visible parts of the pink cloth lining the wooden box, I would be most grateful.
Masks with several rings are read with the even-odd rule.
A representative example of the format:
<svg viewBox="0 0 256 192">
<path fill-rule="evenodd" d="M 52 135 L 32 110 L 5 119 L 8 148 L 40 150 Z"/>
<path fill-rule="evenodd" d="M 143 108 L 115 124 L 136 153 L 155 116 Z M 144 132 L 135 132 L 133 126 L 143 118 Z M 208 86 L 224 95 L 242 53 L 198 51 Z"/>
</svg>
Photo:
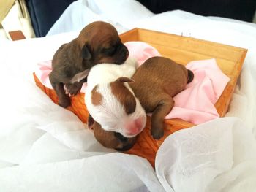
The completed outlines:
<svg viewBox="0 0 256 192">
<path fill-rule="evenodd" d="M 125 45 L 130 55 L 137 58 L 139 66 L 146 59 L 160 55 L 154 47 L 145 42 L 127 42 Z M 194 80 L 174 97 L 175 106 L 165 118 L 181 118 L 195 124 L 218 118 L 214 104 L 224 91 L 229 77 L 222 73 L 214 58 L 191 61 L 186 67 L 194 72 Z M 48 77 L 51 70 L 51 61 L 40 62 L 35 74 L 45 87 L 52 89 Z M 86 92 L 86 83 L 81 92 Z"/>
</svg>

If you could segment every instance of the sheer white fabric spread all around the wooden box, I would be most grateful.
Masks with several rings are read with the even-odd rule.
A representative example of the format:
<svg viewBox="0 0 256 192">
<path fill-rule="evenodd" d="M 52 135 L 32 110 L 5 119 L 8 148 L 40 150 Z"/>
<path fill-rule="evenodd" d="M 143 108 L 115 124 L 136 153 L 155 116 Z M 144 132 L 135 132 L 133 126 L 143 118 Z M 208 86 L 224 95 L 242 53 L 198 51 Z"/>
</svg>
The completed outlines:
<svg viewBox="0 0 256 192">
<path fill-rule="evenodd" d="M 119 33 L 140 27 L 248 49 L 227 117 L 167 137 L 156 171 L 144 158 L 102 147 L 32 77 L 37 62 L 93 20 Z M 0 191 L 255 191 L 255 24 L 178 10 L 154 15 L 133 0 L 83 0 L 48 37 L 1 41 L 0 53 Z"/>
</svg>

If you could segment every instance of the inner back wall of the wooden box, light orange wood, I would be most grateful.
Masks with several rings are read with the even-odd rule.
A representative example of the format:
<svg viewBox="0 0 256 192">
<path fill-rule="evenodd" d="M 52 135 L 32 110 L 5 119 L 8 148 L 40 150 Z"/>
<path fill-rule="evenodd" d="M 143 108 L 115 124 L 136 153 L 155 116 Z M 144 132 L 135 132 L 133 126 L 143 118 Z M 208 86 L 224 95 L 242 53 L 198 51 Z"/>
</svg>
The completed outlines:
<svg viewBox="0 0 256 192">
<path fill-rule="evenodd" d="M 121 34 L 123 42 L 142 41 L 154 46 L 163 56 L 186 65 L 189 61 L 216 58 L 222 72 L 233 76 L 241 71 L 246 49 L 209 42 L 192 37 L 182 37 L 135 28 Z"/>
</svg>

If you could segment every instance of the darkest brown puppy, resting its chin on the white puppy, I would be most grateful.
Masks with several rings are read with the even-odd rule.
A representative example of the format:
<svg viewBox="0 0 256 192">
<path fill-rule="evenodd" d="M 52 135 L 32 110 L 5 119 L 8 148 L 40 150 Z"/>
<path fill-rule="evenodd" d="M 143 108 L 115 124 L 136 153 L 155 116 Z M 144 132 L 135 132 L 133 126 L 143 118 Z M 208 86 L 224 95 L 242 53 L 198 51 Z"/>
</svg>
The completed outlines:
<svg viewBox="0 0 256 192">
<path fill-rule="evenodd" d="M 80 91 L 92 66 L 101 63 L 123 64 L 129 51 L 116 28 L 96 21 L 80 31 L 77 38 L 61 45 L 53 55 L 49 79 L 61 107 L 70 105 L 69 96 Z"/>
</svg>

